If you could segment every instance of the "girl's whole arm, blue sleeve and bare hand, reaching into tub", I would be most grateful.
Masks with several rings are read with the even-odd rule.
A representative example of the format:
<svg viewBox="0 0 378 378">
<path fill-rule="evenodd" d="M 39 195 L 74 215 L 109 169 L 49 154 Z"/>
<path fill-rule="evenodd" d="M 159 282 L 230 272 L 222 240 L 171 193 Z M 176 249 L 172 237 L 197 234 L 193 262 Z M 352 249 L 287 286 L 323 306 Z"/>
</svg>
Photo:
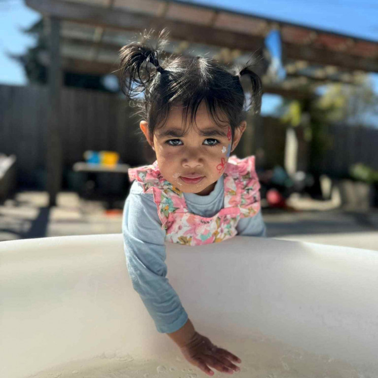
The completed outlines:
<svg viewBox="0 0 378 378">
<path fill-rule="evenodd" d="M 134 185 L 135 188 L 135 185 Z M 238 371 L 232 363 L 240 359 L 225 349 L 214 346 L 196 332 L 180 299 L 168 279 L 165 264 L 165 230 L 155 203 L 141 194 L 130 195 L 125 202 L 122 232 L 127 268 L 134 289 L 155 321 L 158 332 L 167 333 L 177 344 L 186 360 L 208 375 L 218 371 Z"/>
</svg>

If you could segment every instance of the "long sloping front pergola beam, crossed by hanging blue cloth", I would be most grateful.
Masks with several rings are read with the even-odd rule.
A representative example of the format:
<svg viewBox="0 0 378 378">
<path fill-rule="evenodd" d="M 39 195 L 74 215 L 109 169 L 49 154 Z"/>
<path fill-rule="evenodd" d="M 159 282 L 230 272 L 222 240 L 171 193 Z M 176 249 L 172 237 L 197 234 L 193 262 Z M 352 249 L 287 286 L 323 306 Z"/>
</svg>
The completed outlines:
<svg viewBox="0 0 378 378">
<path fill-rule="evenodd" d="M 262 36 L 87 4 L 53 0 L 26 0 L 26 4 L 46 16 L 94 26 L 121 30 L 143 30 L 149 28 L 161 30 L 167 27 L 170 31 L 170 37 L 173 39 L 250 51 L 254 52 L 257 61 L 262 58 L 262 48 L 264 46 L 264 38 Z M 315 48 L 311 45 L 283 43 L 283 56 L 284 60 L 307 60 L 309 62 L 335 65 L 347 69 L 378 72 L 377 59 Z"/>
</svg>

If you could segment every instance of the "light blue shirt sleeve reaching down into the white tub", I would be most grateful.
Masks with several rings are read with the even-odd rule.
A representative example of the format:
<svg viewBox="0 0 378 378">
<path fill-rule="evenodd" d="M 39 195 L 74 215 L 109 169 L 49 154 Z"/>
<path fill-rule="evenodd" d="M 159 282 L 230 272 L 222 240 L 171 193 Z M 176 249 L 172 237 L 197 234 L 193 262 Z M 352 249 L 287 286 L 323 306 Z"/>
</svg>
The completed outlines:
<svg viewBox="0 0 378 378">
<path fill-rule="evenodd" d="M 171 333 L 180 329 L 188 316 L 166 278 L 165 230 L 161 225 L 152 195 L 130 190 L 122 221 L 129 276 L 158 332 Z"/>
</svg>

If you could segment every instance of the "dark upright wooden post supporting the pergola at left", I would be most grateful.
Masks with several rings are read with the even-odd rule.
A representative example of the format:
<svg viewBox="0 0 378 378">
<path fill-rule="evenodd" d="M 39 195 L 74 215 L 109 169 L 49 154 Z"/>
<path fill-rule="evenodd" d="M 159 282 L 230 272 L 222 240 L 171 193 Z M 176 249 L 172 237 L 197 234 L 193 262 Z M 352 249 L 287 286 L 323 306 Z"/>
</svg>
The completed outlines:
<svg viewBox="0 0 378 378">
<path fill-rule="evenodd" d="M 60 20 L 51 17 L 49 82 L 49 122 L 47 128 L 47 192 L 49 207 L 56 206 L 56 197 L 62 183 L 62 147 L 59 130 L 60 88 L 62 85 L 59 47 Z"/>
</svg>

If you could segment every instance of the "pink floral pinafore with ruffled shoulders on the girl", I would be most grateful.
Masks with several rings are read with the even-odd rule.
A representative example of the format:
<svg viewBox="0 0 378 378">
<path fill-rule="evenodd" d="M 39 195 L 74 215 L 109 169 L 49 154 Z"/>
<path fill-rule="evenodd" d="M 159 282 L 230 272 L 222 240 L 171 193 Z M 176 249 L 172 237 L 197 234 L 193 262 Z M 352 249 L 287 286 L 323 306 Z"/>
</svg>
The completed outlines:
<svg viewBox="0 0 378 378">
<path fill-rule="evenodd" d="M 253 217 L 260 210 L 260 183 L 255 172 L 255 157 L 239 159 L 235 155 L 226 163 L 224 207 L 212 217 L 191 213 L 183 193 L 160 173 L 158 162 L 131 168 L 130 181 L 142 183 L 143 192 L 152 193 L 157 205 L 165 240 L 184 245 L 221 242 L 237 234 L 240 218 Z"/>
</svg>

